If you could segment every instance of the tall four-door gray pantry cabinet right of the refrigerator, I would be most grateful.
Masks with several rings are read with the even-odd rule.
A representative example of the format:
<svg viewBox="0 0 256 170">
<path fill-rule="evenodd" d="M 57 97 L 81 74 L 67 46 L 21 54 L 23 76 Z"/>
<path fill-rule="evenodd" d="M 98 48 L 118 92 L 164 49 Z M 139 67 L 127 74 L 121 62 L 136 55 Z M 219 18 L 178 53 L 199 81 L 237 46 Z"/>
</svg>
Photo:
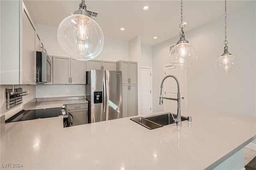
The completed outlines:
<svg viewBox="0 0 256 170">
<path fill-rule="evenodd" d="M 117 61 L 116 70 L 122 71 L 123 117 L 137 115 L 137 62 Z"/>
</svg>

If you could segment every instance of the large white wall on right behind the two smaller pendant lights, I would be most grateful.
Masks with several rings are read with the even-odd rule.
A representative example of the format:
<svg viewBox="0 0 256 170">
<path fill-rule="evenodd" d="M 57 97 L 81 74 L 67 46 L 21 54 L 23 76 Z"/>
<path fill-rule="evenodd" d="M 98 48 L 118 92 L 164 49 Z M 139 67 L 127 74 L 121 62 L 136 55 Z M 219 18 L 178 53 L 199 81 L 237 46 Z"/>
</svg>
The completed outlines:
<svg viewBox="0 0 256 170">
<path fill-rule="evenodd" d="M 188 68 L 188 107 L 256 116 L 255 21 L 255 1 L 228 14 L 228 49 L 239 60 L 238 69 L 230 74 L 214 68 L 224 49 L 224 16 L 192 31 L 184 30 L 186 40 L 198 51 L 198 60 Z M 153 46 L 153 111 L 163 110 L 158 104 L 163 65 L 169 62 L 169 46 L 178 40 L 179 36 Z"/>
</svg>

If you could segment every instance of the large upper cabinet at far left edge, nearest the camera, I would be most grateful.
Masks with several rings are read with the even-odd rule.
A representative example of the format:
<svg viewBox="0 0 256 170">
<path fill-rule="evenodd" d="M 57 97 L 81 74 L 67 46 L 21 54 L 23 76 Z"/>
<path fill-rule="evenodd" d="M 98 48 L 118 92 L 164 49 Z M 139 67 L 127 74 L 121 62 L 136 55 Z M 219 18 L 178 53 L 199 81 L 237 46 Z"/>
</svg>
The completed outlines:
<svg viewBox="0 0 256 170">
<path fill-rule="evenodd" d="M 35 26 L 22 1 L 6 0 L 0 3 L 0 83 L 36 84 Z"/>
</svg>

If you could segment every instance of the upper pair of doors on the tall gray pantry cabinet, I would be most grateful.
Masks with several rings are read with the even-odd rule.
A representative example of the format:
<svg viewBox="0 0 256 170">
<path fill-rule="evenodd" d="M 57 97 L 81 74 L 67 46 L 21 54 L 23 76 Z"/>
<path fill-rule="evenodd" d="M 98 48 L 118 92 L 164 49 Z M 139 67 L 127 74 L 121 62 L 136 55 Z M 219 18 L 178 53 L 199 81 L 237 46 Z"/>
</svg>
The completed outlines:
<svg viewBox="0 0 256 170">
<path fill-rule="evenodd" d="M 137 84 L 137 62 L 117 61 L 117 70 L 122 71 L 122 84 Z"/>
</svg>

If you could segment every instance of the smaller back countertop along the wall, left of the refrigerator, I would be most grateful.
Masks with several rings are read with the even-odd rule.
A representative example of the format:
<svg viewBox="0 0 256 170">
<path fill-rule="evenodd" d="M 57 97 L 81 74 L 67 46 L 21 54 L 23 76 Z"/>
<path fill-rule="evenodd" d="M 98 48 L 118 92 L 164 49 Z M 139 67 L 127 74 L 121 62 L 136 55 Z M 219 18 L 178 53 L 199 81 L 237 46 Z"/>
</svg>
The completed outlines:
<svg viewBox="0 0 256 170">
<path fill-rule="evenodd" d="M 72 100 L 60 100 L 60 101 L 31 101 L 26 103 L 23 106 L 24 110 L 33 110 L 33 109 L 47 109 L 54 107 L 62 107 L 63 105 L 70 104 L 82 104 L 88 103 L 86 99 L 72 99 Z"/>
</svg>

